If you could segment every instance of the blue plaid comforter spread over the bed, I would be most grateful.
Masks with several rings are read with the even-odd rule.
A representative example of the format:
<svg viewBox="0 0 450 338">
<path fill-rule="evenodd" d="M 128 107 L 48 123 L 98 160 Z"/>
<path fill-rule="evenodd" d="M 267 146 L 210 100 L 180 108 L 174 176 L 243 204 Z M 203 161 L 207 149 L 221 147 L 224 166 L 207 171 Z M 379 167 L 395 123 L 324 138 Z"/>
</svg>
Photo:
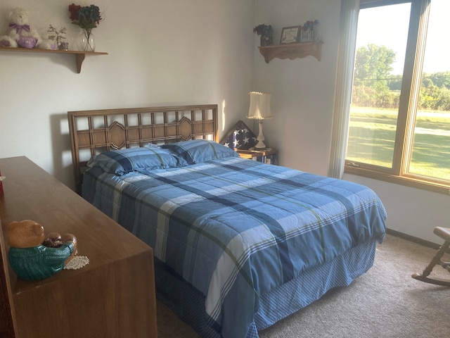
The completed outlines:
<svg viewBox="0 0 450 338">
<path fill-rule="evenodd" d="M 83 196 L 205 295 L 222 337 L 245 337 L 259 295 L 368 239 L 386 212 L 367 187 L 243 158 L 117 176 Z"/>
</svg>

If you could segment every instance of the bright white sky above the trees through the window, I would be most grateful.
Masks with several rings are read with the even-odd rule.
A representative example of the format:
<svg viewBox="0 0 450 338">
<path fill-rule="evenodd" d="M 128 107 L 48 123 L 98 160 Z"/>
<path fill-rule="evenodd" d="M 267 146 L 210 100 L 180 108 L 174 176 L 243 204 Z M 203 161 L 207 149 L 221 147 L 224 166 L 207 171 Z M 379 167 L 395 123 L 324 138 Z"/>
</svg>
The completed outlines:
<svg viewBox="0 0 450 338">
<path fill-rule="evenodd" d="M 356 49 L 374 43 L 394 50 L 394 75 L 403 73 L 410 9 L 411 4 L 397 4 L 359 11 Z M 431 0 L 424 73 L 450 71 L 449 14 L 450 0 Z"/>
</svg>

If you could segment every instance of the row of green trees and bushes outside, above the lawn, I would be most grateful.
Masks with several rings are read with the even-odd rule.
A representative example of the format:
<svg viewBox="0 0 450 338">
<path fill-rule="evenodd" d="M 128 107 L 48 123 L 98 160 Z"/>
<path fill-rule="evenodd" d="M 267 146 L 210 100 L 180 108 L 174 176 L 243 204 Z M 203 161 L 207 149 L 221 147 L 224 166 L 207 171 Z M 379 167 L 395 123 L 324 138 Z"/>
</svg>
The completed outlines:
<svg viewBox="0 0 450 338">
<path fill-rule="evenodd" d="M 395 52 L 368 44 L 356 50 L 352 104 L 361 107 L 398 108 L 402 75 L 392 75 Z M 423 73 L 419 110 L 450 111 L 450 71 Z"/>
</svg>

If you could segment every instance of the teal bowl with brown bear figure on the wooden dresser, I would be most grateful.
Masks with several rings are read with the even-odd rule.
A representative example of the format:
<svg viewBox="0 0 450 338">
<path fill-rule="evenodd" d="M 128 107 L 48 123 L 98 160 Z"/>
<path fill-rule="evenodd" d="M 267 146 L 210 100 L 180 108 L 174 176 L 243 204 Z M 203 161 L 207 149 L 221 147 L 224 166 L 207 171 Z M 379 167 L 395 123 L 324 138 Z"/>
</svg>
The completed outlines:
<svg viewBox="0 0 450 338">
<path fill-rule="evenodd" d="M 44 227 L 34 220 L 9 223 L 8 239 L 9 263 L 23 280 L 43 280 L 60 272 L 77 251 L 73 234 L 52 232 L 44 239 Z"/>
</svg>

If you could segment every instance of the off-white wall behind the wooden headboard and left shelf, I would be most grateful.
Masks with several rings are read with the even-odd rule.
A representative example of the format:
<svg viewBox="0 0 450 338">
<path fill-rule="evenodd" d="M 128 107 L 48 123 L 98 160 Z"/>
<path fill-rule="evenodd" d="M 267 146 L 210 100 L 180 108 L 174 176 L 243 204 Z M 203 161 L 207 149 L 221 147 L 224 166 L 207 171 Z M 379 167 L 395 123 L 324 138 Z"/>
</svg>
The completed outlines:
<svg viewBox="0 0 450 338">
<path fill-rule="evenodd" d="M 46 37 L 70 23 L 72 0 L 0 0 L 0 34 L 15 7 Z M 75 1 L 76 2 L 76 1 Z M 94 29 L 96 51 L 77 74 L 75 56 L 0 52 L 0 158 L 27 156 L 73 187 L 67 112 L 219 104 L 219 136 L 248 106 L 254 0 L 108 0 Z M 1 170 L 1 168 L 0 168 Z"/>
</svg>

